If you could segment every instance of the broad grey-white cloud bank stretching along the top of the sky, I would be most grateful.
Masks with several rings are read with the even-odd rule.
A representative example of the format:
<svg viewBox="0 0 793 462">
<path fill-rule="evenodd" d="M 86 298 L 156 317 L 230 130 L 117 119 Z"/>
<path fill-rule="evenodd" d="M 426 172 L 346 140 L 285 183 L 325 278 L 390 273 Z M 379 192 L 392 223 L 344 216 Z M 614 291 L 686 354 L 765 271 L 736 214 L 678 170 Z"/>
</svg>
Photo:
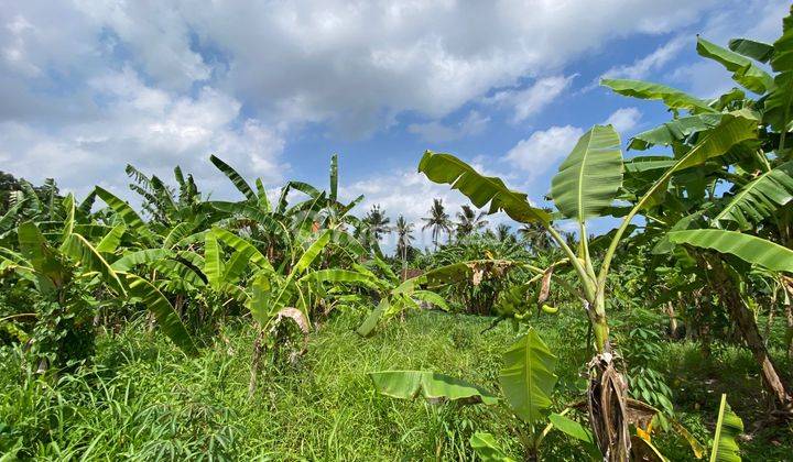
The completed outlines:
<svg viewBox="0 0 793 462">
<path fill-rule="evenodd" d="M 18 2 L 0 12 L 0 44 L 18 73 L 79 77 L 123 59 L 157 88 L 210 79 L 273 123 L 360 135 L 402 111 L 441 119 L 611 38 L 688 24 L 711 3 Z M 19 18 L 30 28 L 9 28 Z M 536 105 L 523 97 L 517 120 Z"/>
</svg>

